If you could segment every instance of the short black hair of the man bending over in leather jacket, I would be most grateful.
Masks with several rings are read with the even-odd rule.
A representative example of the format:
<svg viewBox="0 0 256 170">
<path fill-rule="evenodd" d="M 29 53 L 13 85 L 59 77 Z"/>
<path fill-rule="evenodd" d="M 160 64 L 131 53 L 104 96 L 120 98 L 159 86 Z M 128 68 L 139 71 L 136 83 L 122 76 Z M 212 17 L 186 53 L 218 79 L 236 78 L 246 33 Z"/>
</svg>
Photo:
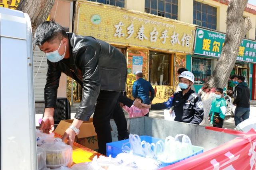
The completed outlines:
<svg viewBox="0 0 256 170">
<path fill-rule="evenodd" d="M 34 44 L 43 45 L 46 41 L 52 42 L 56 39 L 61 40 L 64 37 L 67 37 L 67 33 L 60 24 L 54 20 L 44 21 L 36 29 Z"/>
</svg>

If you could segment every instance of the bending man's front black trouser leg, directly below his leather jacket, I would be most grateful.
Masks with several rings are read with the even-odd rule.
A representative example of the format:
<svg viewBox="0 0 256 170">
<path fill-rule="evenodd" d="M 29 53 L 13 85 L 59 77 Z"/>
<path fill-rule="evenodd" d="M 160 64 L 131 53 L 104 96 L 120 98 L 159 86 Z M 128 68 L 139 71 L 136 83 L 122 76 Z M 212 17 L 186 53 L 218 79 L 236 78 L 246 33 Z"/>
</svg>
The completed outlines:
<svg viewBox="0 0 256 170">
<path fill-rule="evenodd" d="M 106 143 L 112 142 L 110 119 L 120 92 L 101 90 L 93 114 L 93 125 L 98 138 L 98 152 L 106 155 Z"/>
</svg>

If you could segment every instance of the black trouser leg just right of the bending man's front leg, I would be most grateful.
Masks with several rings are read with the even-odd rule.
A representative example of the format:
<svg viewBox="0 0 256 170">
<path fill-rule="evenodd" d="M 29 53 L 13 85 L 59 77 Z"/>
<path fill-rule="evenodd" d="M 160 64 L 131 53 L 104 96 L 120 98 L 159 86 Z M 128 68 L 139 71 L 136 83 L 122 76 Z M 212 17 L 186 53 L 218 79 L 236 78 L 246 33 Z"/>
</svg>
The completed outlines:
<svg viewBox="0 0 256 170">
<path fill-rule="evenodd" d="M 113 119 L 115 121 L 115 124 L 117 125 L 118 141 L 129 139 L 125 113 L 123 112 L 123 109 L 120 107 L 118 102 L 115 105 L 115 109 L 113 112 Z"/>
</svg>

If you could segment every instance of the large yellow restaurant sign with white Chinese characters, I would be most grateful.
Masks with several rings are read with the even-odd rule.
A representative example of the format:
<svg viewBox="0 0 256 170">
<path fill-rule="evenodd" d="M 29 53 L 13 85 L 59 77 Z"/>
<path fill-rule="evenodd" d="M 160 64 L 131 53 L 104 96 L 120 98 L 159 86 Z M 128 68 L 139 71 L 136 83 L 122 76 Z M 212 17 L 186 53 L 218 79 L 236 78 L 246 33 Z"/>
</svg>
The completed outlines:
<svg viewBox="0 0 256 170">
<path fill-rule="evenodd" d="M 74 32 L 109 43 L 192 53 L 195 26 L 115 6 L 78 0 Z"/>
</svg>

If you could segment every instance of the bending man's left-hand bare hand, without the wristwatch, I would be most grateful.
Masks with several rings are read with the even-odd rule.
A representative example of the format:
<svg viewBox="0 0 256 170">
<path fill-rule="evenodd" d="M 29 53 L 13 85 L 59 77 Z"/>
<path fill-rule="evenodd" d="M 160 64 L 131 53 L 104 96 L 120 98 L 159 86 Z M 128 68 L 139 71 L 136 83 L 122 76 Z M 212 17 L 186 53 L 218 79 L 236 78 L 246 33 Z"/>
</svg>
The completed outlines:
<svg viewBox="0 0 256 170">
<path fill-rule="evenodd" d="M 44 133 L 52 133 L 54 131 L 54 108 L 44 109 L 40 130 L 43 130 Z"/>
</svg>

